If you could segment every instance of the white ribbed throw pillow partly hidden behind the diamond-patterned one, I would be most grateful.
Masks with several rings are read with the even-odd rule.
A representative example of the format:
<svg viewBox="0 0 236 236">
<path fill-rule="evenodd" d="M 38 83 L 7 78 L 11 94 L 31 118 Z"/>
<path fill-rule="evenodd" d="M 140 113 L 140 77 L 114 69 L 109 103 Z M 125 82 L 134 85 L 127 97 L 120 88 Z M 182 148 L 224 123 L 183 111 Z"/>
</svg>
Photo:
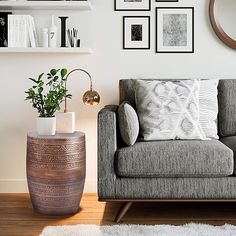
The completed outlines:
<svg viewBox="0 0 236 236">
<path fill-rule="evenodd" d="M 199 123 L 210 139 L 219 139 L 217 135 L 217 116 L 218 116 L 218 84 L 219 80 L 201 80 L 199 91 Z"/>
</svg>

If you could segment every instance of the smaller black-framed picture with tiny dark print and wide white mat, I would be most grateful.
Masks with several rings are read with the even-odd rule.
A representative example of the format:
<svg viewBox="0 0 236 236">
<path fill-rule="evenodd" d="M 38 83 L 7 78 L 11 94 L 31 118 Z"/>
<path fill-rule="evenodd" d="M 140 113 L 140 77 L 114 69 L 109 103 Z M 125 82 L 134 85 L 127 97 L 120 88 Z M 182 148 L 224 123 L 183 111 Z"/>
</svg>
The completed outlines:
<svg viewBox="0 0 236 236">
<path fill-rule="evenodd" d="M 150 16 L 123 17 L 123 49 L 150 49 Z"/>
</svg>

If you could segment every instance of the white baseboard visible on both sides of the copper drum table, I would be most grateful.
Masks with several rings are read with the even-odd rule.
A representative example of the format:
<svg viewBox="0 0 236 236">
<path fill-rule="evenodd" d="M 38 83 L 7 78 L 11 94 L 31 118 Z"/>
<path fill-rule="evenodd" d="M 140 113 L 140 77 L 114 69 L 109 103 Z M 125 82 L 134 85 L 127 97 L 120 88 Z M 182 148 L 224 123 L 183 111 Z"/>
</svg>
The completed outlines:
<svg viewBox="0 0 236 236">
<path fill-rule="evenodd" d="M 85 193 L 97 192 L 97 180 L 86 179 Z M 28 193 L 26 179 L 0 179 L 0 193 Z"/>
</svg>

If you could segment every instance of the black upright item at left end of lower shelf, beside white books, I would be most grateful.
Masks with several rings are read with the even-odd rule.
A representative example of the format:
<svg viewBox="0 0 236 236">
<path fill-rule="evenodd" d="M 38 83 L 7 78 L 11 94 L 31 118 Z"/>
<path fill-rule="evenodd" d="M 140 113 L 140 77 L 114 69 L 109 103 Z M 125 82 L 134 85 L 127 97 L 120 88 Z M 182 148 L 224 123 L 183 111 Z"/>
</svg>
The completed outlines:
<svg viewBox="0 0 236 236">
<path fill-rule="evenodd" d="M 8 46 L 8 15 L 11 12 L 0 12 L 0 47 Z"/>
</svg>

